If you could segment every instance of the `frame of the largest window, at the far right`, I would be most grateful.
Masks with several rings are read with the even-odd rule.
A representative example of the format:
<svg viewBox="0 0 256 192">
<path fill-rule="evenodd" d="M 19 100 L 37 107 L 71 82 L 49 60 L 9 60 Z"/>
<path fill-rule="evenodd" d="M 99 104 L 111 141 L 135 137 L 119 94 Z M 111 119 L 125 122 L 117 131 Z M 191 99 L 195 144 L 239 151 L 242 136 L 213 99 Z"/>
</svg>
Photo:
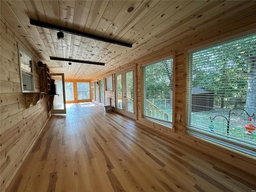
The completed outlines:
<svg viewBox="0 0 256 192">
<path fill-rule="evenodd" d="M 207 135 L 204 135 L 202 134 L 201 132 L 196 132 L 196 131 L 191 131 L 191 130 L 188 130 L 188 123 L 189 123 L 189 119 L 190 117 L 188 116 L 189 114 L 191 114 L 191 109 L 192 107 L 189 106 L 189 103 L 191 103 L 191 99 L 192 97 L 189 97 L 189 93 L 188 93 L 188 86 L 190 86 L 190 84 L 192 84 L 192 81 L 190 82 L 190 64 L 189 64 L 189 54 L 191 52 L 196 52 L 196 51 L 200 51 L 200 50 L 203 50 L 203 49 L 207 49 L 207 48 L 210 48 L 210 47 L 213 47 L 213 46 L 218 46 L 220 44 L 225 44 L 227 42 L 231 42 L 231 41 L 234 41 L 236 39 L 239 39 L 239 38 L 243 38 L 245 36 L 248 36 L 248 35 L 251 35 L 251 34 L 255 34 L 256 33 L 256 29 L 252 29 L 252 30 L 248 30 L 248 31 L 245 31 L 245 32 L 242 32 L 242 33 L 239 33 L 239 34 L 235 34 L 235 35 L 232 35 L 232 36 L 228 36 L 226 38 L 222 38 L 222 39 L 219 39 L 219 40 L 216 40 L 216 41 L 212 41 L 211 39 L 208 40 L 207 42 L 200 42 L 198 44 L 194 44 L 192 46 L 188 46 L 184 49 L 184 69 L 185 69 L 185 73 L 186 74 L 186 79 L 185 79 L 185 82 L 186 82 L 186 87 L 184 88 L 186 94 L 184 96 L 184 105 L 183 107 L 186 108 L 186 110 L 183 110 L 183 116 L 186 117 L 185 118 L 185 121 L 183 122 L 183 135 L 186 136 L 186 137 L 193 137 L 193 138 L 198 138 L 199 140 L 203 140 L 205 142 L 208 142 L 208 143 L 211 143 L 211 144 L 215 144 L 221 148 L 225 148 L 225 149 L 228 149 L 228 150 L 233 150 L 235 152 L 240 152 L 241 154 L 249 154 L 249 155 L 253 155 L 255 156 L 255 153 L 252 152 L 252 148 L 243 148 L 242 146 L 238 146 L 238 142 L 234 142 L 235 139 L 227 139 L 227 141 L 229 140 L 229 142 L 227 141 L 222 141 L 221 139 L 219 138 L 216 138 L 214 136 L 211 137 L 211 134 L 207 134 Z M 234 141 L 233 141 L 234 140 Z"/>
</svg>

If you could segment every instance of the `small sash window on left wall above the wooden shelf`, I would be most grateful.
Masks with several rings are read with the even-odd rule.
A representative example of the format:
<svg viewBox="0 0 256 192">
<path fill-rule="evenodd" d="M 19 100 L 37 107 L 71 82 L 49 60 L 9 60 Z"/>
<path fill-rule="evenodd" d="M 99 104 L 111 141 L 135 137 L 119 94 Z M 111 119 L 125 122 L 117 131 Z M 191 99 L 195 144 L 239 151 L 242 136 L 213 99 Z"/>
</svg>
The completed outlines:
<svg viewBox="0 0 256 192">
<path fill-rule="evenodd" d="M 34 92 L 34 74 L 32 56 L 19 45 L 20 79 L 22 92 Z"/>
</svg>

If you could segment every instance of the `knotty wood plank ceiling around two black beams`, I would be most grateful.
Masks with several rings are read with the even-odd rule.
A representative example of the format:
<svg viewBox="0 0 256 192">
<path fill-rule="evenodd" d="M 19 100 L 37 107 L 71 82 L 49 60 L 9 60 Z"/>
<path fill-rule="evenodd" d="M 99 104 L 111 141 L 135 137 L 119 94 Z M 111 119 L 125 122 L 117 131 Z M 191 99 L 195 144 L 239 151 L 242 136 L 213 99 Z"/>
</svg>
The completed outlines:
<svg viewBox="0 0 256 192">
<path fill-rule="evenodd" d="M 52 73 L 93 80 L 154 50 L 254 14 L 256 1 L 1 0 L 1 14 Z M 39 20 L 132 44 L 132 48 L 30 24 Z M 118 30 L 112 30 L 112 25 Z M 203 39 L 202 39 L 203 40 Z M 53 61 L 50 56 L 104 62 L 105 66 Z"/>
</svg>

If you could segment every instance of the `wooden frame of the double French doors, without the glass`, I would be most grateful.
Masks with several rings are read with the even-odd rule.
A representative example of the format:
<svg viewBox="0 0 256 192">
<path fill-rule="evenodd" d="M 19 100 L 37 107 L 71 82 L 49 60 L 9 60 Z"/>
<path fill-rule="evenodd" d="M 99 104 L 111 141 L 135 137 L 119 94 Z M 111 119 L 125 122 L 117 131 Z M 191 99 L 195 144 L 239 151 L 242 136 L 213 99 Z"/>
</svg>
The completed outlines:
<svg viewBox="0 0 256 192">
<path fill-rule="evenodd" d="M 126 110 L 126 101 L 124 102 L 124 96 L 126 96 L 126 73 L 128 72 L 133 72 L 133 94 L 134 94 L 134 112 L 129 112 Z M 117 81 L 116 81 L 116 76 L 122 74 L 122 105 L 123 109 L 117 108 L 118 106 L 118 94 L 117 94 Z M 136 67 L 131 67 L 126 70 L 120 71 L 115 73 L 115 95 L 116 95 L 116 112 L 123 114 L 125 116 L 128 116 L 132 119 L 137 120 L 137 92 L 136 92 Z"/>
</svg>

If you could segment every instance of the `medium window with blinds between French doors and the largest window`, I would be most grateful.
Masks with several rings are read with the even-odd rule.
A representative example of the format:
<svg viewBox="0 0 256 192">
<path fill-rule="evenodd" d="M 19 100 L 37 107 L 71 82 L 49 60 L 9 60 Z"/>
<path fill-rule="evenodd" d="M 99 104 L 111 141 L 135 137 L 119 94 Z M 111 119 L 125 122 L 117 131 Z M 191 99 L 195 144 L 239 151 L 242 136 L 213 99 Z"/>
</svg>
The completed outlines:
<svg viewBox="0 0 256 192">
<path fill-rule="evenodd" d="M 171 126 L 172 58 L 142 67 L 143 116 Z"/>
</svg>

